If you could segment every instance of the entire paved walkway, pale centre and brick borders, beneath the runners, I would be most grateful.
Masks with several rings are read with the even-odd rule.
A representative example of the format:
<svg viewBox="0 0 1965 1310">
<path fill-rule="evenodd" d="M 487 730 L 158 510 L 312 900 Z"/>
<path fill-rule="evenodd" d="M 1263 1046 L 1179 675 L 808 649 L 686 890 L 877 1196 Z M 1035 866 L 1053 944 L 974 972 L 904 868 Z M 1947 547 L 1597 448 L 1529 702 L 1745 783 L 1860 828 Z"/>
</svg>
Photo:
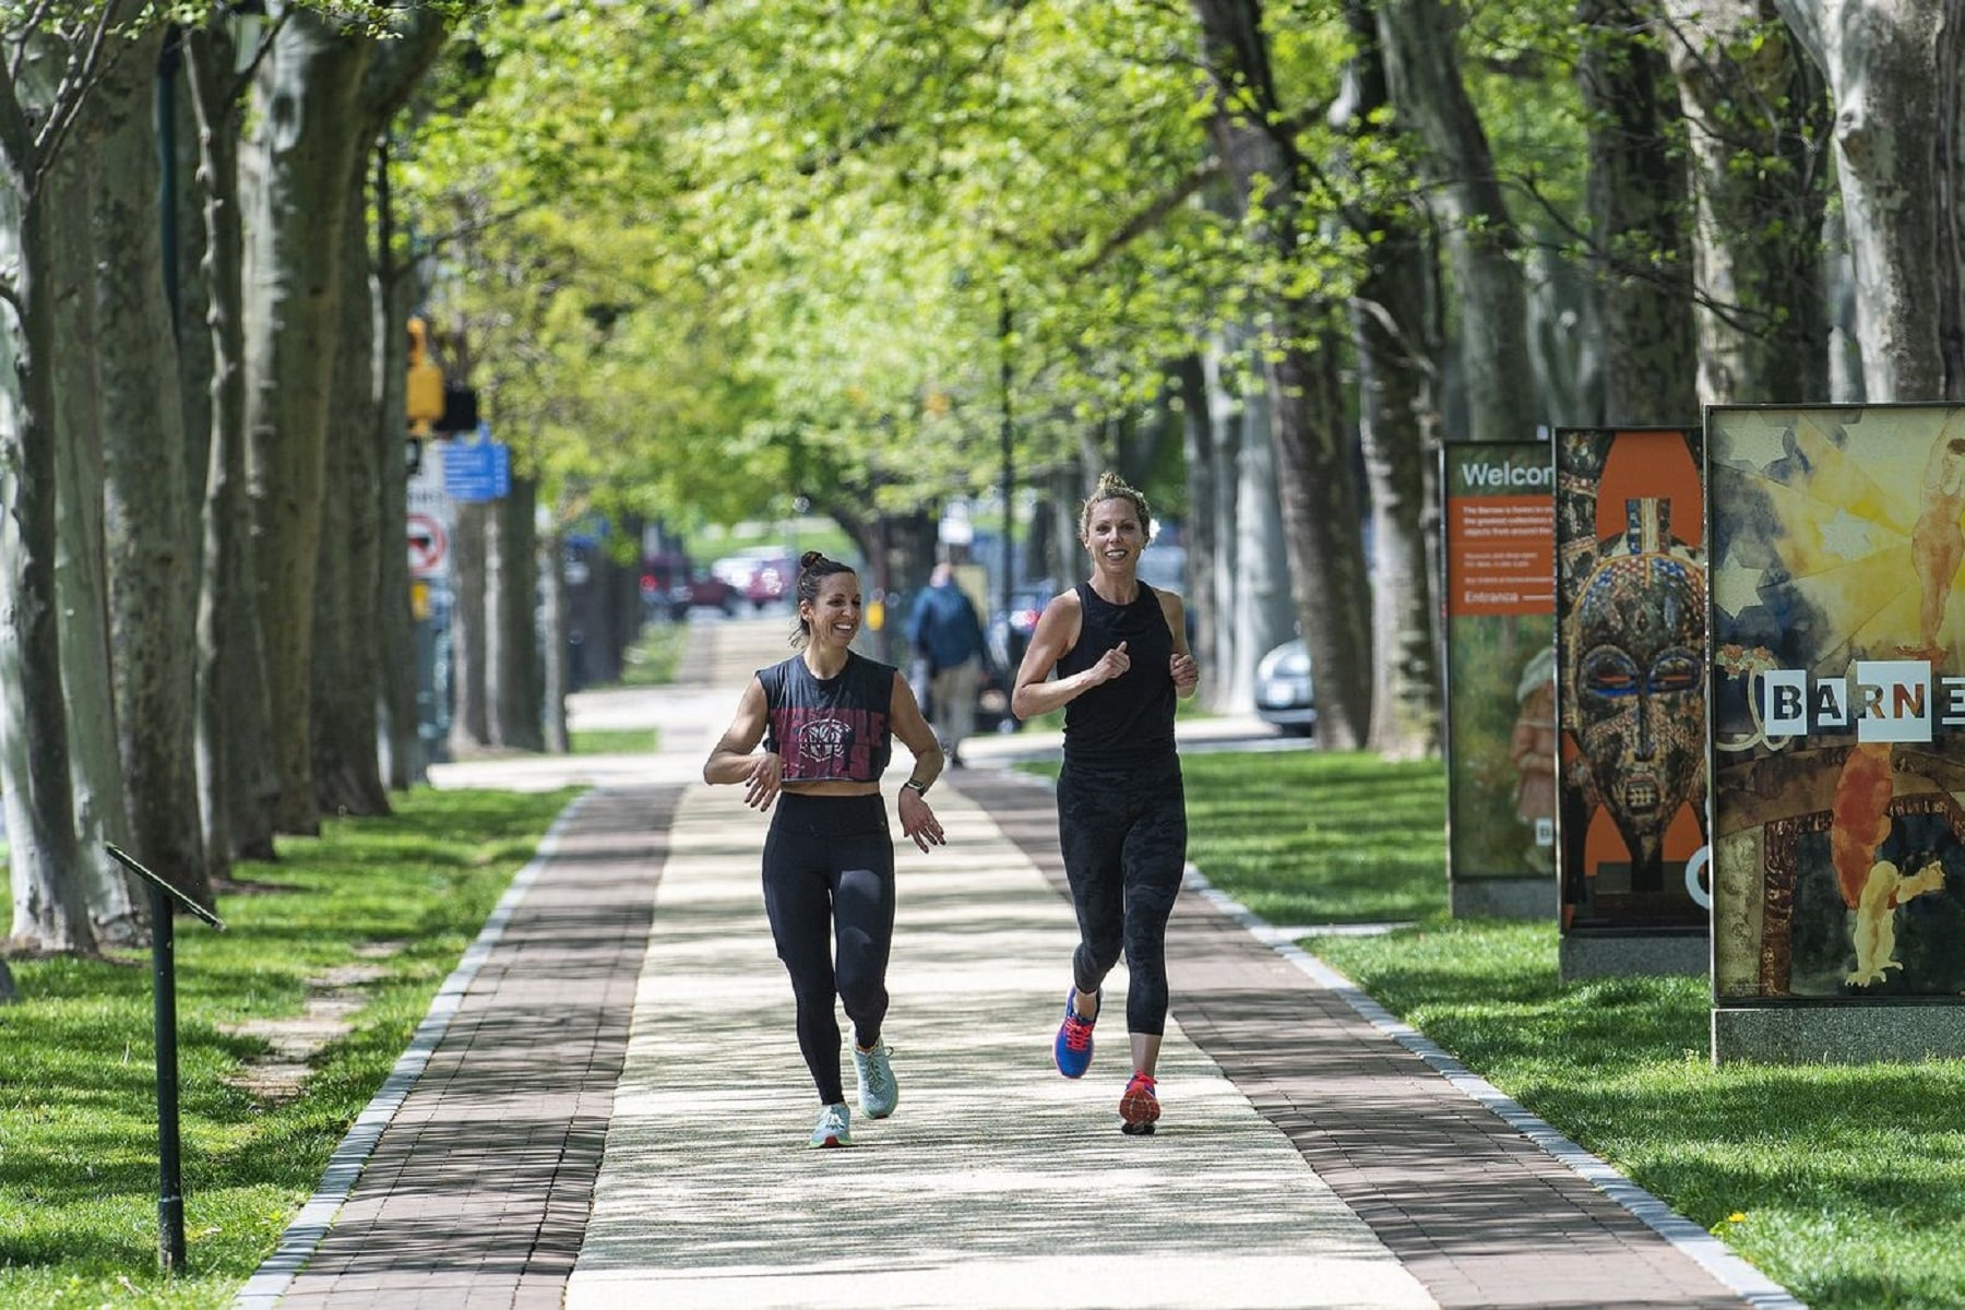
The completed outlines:
<svg viewBox="0 0 1965 1310">
<path fill-rule="evenodd" d="M 242 1310 L 1796 1304 L 1199 878 L 1161 1131 L 1122 1137 L 1120 1031 L 1049 1066 L 1055 805 L 996 768 L 900 848 L 900 1108 L 806 1151 L 762 821 L 694 782 L 731 703 L 672 699 L 562 819 Z"/>
</svg>

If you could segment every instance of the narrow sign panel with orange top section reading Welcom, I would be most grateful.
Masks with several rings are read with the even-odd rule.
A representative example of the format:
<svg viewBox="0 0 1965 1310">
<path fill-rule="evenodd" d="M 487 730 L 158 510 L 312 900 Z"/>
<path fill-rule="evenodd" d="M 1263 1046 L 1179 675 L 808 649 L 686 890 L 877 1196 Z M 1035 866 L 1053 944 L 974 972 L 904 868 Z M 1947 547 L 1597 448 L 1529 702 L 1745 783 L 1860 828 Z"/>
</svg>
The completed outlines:
<svg viewBox="0 0 1965 1310">
<path fill-rule="evenodd" d="M 1552 483 L 1548 442 L 1444 450 L 1450 880 L 1554 874 Z"/>
</svg>

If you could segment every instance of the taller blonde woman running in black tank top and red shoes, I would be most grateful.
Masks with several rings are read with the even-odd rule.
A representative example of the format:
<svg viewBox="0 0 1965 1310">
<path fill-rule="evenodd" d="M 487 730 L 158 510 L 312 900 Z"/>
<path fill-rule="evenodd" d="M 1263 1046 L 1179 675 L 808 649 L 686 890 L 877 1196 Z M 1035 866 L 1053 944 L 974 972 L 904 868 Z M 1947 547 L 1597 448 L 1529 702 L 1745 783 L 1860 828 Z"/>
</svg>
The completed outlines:
<svg viewBox="0 0 1965 1310">
<path fill-rule="evenodd" d="M 1140 581 L 1151 522 L 1144 495 L 1112 473 L 1098 479 L 1079 515 L 1091 579 L 1043 607 L 1010 695 L 1018 719 L 1065 711 L 1057 831 L 1079 945 L 1051 1053 L 1067 1078 L 1091 1068 L 1104 980 L 1124 953 L 1132 1076 L 1118 1114 L 1128 1135 L 1159 1119 L 1167 917 L 1187 868 L 1173 703 L 1201 682 L 1181 597 Z"/>
</svg>

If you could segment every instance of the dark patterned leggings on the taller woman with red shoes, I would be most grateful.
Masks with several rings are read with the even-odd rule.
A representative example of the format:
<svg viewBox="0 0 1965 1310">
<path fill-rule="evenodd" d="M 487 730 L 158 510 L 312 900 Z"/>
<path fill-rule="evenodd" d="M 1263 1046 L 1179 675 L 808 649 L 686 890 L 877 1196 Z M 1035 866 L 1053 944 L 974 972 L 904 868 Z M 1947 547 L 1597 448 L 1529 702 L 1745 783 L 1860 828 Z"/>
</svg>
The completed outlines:
<svg viewBox="0 0 1965 1310">
<path fill-rule="evenodd" d="M 1057 839 L 1079 915 L 1071 980 L 1096 992 L 1124 951 L 1126 1031 L 1165 1033 L 1167 917 L 1187 870 L 1179 758 L 1144 770 L 1067 762 L 1057 776 Z"/>
</svg>

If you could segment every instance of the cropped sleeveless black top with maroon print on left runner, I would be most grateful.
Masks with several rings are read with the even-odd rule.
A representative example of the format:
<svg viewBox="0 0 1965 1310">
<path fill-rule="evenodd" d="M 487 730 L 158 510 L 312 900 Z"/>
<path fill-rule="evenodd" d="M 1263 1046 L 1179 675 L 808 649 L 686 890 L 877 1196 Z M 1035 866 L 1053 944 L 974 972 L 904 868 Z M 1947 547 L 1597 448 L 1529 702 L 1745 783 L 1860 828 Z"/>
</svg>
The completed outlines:
<svg viewBox="0 0 1965 1310">
<path fill-rule="evenodd" d="M 757 678 L 768 707 L 764 750 L 784 760 L 786 782 L 880 782 L 894 754 L 892 664 L 849 650 L 837 678 L 814 678 L 804 656 L 760 668 Z"/>
</svg>

